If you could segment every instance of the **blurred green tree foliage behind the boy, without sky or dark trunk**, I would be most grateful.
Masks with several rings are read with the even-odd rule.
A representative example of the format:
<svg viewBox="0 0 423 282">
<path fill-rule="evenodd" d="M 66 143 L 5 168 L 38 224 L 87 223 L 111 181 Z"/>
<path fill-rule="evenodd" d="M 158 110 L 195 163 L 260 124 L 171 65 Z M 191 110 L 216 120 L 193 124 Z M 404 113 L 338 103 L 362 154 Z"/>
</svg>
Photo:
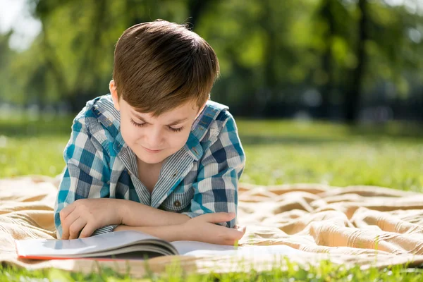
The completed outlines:
<svg viewBox="0 0 423 282">
<path fill-rule="evenodd" d="M 348 89 L 358 63 L 362 15 L 357 1 L 209 0 L 202 1 L 198 13 L 191 0 L 28 3 L 42 21 L 42 33 L 30 49 L 11 51 L 8 35 L 0 37 L 1 98 L 21 104 L 73 105 L 78 97 L 104 94 L 118 37 L 130 25 L 157 18 L 194 22 L 195 32 L 212 44 L 221 63 L 213 95 L 226 104 L 289 100 L 303 86 L 330 92 L 324 88 L 329 83 Z M 362 75 L 367 94 L 388 81 L 395 86 L 394 98 L 421 95 L 416 89 L 423 78 L 423 18 L 384 1 L 369 1 L 366 13 L 369 39 Z M 258 94 L 263 91 L 269 95 Z"/>
</svg>

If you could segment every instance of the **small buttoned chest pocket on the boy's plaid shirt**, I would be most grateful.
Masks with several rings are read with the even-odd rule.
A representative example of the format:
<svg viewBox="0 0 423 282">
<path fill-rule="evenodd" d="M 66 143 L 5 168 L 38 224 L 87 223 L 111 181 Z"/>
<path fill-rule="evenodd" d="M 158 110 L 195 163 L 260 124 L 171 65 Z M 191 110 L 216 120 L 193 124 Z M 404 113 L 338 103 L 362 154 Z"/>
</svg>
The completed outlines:
<svg viewBox="0 0 423 282">
<path fill-rule="evenodd" d="M 194 188 L 180 186 L 161 203 L 161 209 L 168 212 L 188 212 L 191 200 L 194 197 Z"/>
</svg>

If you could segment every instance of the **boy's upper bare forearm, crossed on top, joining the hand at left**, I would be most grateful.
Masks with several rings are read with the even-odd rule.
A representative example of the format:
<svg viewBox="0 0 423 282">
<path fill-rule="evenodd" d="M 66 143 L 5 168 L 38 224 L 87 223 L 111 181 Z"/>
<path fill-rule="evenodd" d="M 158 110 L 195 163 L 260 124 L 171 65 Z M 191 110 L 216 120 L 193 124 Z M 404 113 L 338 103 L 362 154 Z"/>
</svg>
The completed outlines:
<svg viewBox="0 0 423 282">
<path fill-rule="evenodd" d="M 118 200 L 122 224 L 126 226 L 171 226 L 190 219 L 185 214 L 166 212 L 130 200 Z"/>
</svg>

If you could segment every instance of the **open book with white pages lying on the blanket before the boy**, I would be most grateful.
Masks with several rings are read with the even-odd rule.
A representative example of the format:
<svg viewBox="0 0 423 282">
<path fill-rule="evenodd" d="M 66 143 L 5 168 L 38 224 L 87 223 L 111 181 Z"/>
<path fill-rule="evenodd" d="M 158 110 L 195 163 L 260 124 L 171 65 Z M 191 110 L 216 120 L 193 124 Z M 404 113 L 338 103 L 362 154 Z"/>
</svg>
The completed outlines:
<svg viewBox="0 0 423 282">
<path fill-rule="evenodd" d="M 26 259 L 145 259 L 161 255 L 291 255 L 305 253 L 286 245 L 234 247 L 195 241 L 169 243 L 140 231 L 117 231 L 72 240 L 16 240 L 18 257 Z"/>
</svg>

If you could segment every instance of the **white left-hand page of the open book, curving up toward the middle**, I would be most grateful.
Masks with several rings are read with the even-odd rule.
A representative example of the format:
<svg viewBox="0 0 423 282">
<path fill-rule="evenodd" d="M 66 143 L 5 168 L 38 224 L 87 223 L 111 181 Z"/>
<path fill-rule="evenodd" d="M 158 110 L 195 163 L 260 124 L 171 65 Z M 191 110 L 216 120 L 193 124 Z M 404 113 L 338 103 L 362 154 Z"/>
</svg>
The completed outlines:
<svg viewBox="0 0 423 282">
<path fill-rule="evenodd" d="M 16 247 L 18 254 L 23 256 L 78 255 L 116 249 L 140 240 L 157 238 L 139 231 L 118 231 L 72 240 L 16 240 Z"/>
</svg>

